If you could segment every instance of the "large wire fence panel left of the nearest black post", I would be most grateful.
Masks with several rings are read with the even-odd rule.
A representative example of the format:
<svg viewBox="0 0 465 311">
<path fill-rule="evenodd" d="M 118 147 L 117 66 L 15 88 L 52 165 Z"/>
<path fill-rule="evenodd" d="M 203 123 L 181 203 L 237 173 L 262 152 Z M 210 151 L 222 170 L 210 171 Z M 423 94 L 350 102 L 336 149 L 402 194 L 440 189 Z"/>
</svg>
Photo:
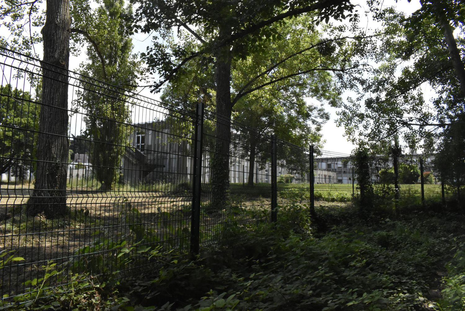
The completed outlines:
<svg viewBox="0 0 465 311">
<path fill-rule="evenodd" d="M 125 254 L 130 248 L 187 250 L 193 113 L 57 71 L 54 79 L 66 81 L 68 92 L 67 132 L 40 132 L 47 106 L 40 62 L 8 51 L 1 57 L 0 243 L 25 259 L 1 269 L 2 296 L 38 291 L 50 261 L 60 271 L 45 284 L 63 285 L 74 273 L 124 276 L 151 265 L 146 256 Z M 52 121 L 60 109 L 48 105 Z M 55 205 L 30 203 L 41 190 L 39 174 L 58 179 L 38 169 L 42 134 L 66 139 L 65 158 L 55 163 L 66 172 L 58 189 L 66 200 L 62 217 L 47 215 L 59 212 Z"/>
</svg>

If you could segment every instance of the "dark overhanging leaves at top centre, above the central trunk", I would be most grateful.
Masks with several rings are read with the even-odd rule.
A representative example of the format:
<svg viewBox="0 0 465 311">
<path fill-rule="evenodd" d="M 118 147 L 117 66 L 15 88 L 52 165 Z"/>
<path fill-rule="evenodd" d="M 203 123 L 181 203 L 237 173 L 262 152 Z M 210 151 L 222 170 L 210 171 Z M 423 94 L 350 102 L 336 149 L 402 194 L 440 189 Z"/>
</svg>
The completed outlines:
<svg viewBox="0 0 465 311">
<path fill-rule="evenodd" d="M 328 22 L 331 16 L 338 20 L 353 19 L 353 5 L 348 1 L 337 4 L 312 1 L 134 1 L 140 6 L 136 10 L 137 30 L 157 33 L 152 46 L 142 56 L 149 68 L 160 75 L 162 85 L 178 73 L 183 73 L 189 60 L 198 58 L 203 64 L 215 58 L 227 60 L 231 54 L 235 59 L 245 60 L 249 55 L 265 51 L 267 45 L 280 40 L 282 34 L 273 24 L 282 23 L 288 17 L 319 11 L 315 20 Z M 346 12 L 349 11 L 349 12 Z M 271 25 L 271 26 L 270 26 Z M 195 30 L 192 26 L 195 26 Z M 170 44 L 173 28 L 185 28 L 199 41 L 199 49 L 190 45 Z"/>
</svg>

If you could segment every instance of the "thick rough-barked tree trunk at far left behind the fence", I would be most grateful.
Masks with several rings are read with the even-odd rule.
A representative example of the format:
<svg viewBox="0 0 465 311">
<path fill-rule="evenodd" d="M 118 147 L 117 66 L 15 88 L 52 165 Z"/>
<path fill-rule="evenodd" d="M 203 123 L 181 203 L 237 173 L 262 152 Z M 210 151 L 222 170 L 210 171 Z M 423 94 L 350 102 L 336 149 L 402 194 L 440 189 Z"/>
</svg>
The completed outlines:
<svg viewBox="0 0 465 311">
<path fill-rule="evenodd" d="M 28 214 L 44 212 L 47 218 L 66 212 L 70 26 L 69 0 L 47 0 L 37 177 L 27 209 Z"/>
</svg>

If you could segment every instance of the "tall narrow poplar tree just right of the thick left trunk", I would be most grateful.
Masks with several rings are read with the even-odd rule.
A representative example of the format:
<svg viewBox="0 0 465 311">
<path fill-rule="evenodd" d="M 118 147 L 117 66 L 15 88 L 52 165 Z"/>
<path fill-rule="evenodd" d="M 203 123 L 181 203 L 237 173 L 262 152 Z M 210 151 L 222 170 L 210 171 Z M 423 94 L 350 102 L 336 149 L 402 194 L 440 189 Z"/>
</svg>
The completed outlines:
<svg viewBox="0 0 465 311">
<path fill-rule="evenodd" d="M 73 102 L 86 116 L 86 137 L 91 140 L 90 162 L 101 190 L 113 189 L 119 174 L 124 146 L 130 137 L 131 109 L 127 91 L 135 88 L 141 73 L 132 53 L 132 7 L 124 0 L 103 0 L 99 7 L 87 11 L 80 5 L 80 19 L 75 19 L 75 42 L 90 40 L 88 60 L 80 73 L 117 87 L 89 87 L 83 83 L 79 99 Z"/>
</svg>

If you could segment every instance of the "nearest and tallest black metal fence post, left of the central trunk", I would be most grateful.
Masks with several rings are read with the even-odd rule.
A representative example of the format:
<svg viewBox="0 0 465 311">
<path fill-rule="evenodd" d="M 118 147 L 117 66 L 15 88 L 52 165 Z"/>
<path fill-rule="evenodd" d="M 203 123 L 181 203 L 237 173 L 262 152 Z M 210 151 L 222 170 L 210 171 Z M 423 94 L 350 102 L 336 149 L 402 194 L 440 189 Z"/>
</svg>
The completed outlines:
<svg viewBox="0 0 465 311">
<path fill-rule="evenodd" d="M 199 253 L 200 244 L 200 200 L 202 195 L 202 144 L 203 144 L 204 105 L 197 104 L 195 115 L 195 136 L 193 154 L 193 193 L 191 218 L 191 254 Z"/>
</svg>

